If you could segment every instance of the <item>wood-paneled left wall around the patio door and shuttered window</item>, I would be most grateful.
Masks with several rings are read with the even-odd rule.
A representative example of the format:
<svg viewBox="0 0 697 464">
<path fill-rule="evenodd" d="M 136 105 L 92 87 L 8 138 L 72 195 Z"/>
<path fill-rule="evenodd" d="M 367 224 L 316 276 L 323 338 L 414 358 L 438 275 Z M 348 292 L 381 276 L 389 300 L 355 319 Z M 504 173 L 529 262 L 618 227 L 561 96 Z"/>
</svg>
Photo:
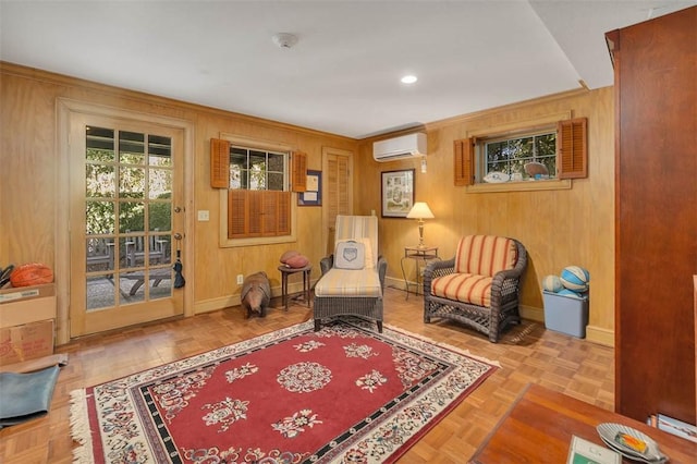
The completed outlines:
<svg viewBox="0 0 697 464">
<path fill-rule="evenodd" d="M 236 276 L 259 270 L 268 273 L 271 285 L 280 288 L 279 258 L 288 249 L 298 249 L 315 264 L 325 247 L 317 240 L 321 231 L 321 208 L 297 208 L 297 241 L 266 246 L 219 247 L 220 194 L 210 187 L 210 138 L 221 133 L 276 142 L 305 151 L 307 168 L 321 170 L 323 147 L 355 152 L 357 142 L 316 132 L 188 105 L 75 80 L 48 72 L 0 63 L 0 266 L 29 261 L 56 267 L 58 183 L 57 100 L 70 98 L 94 105 L 132 110 L 189 121 L 194 125 L 194 210 L 186 211 L 193 234 L 185 246 L 194 248 L 194 262 L 184 262 L 184 276 L 195 276 L 186 291 L 193 292 L 193 307 L 187 315 L 220 309 L 240 303 L 241 285 Z M 296 203 L 296 194 L 293 203 Z M 210 211 L 210 220 L 196 221 L 197 210 Z M 192 219 L 193 218 L 193 219 Z M 313 279 L 319 278 L 319 265 Z M 56 276 L 57 285 L 65 285 L 65 276 Z M 66 291 L 65 291 L 66 293 Z M 236 295 L 236 297 L 235 297 Z M 66 302 L 59 301 L 61 305 Z M 59 312 L 59 314 L 61 314 Z M 57 321 L 59 342 L 65 342 L 68 314 Z M 62 340 L 60 340 L 62 338 Z"/>
</svg>

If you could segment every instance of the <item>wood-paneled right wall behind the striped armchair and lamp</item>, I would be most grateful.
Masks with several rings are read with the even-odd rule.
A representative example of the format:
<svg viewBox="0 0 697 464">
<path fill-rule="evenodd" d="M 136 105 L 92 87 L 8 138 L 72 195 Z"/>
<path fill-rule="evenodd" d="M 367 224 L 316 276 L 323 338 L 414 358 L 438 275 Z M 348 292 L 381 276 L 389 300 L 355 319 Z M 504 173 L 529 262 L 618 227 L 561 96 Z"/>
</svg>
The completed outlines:
<svg viewBox="0 0 697 464">
<path fill-rule="evenodd" d="M 470 133 L 497 132 L 512 123 L 570 113 L 588 118 L 589 171 L 587 179 L 572 181 L 571 190 L 470 193 L 453 185 L 453 141 Z M 438 246 L 443 258 L 454 256 L 460 236 L 498 234 L 519 240 L 529 264 L 523 280 L 524 316 L 542 317 L 541 281 L 568 265 L 590 271 L 590 320 L 587 337 L 612 345 L 614 326 L 614 129 L 612 87 L 579 90 L 530 102 L 467 114 L 431 124 L 428 135 L 427 172 L 420 159 L 376 162 L 374 139 L 362 141 L 356 188 L 359 213 L 380 215 L 382 171 L 415 169 L 417 202 L 426 202 L 435 219 L 426 220 L 427 245 Z M 383 136 L 382 136 L 383 137 Z M 382 138 L 381 137 L 381 138 Z M 380 247 L 388 260 L 388 276 L 402 279 L 400 259 L 405 245 L 415 245 L 415 220 L 381 218 Z M 411 264 L 409 264 L 411 265 Z M 408 271 L 408 269 L 407 269 Z M 412 279 L 413 280 L 413 279 Z"/>
</svg>

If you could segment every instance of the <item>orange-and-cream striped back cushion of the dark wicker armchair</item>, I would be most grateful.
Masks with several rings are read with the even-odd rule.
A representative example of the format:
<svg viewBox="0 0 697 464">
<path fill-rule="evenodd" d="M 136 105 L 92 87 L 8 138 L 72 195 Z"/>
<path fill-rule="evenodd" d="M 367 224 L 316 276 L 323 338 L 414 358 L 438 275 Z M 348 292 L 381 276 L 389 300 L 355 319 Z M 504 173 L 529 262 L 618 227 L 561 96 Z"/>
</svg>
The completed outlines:
<svg viewBox="0 0 697 464">
<path fill-rule="evenodd" d="M 455 252 L 455 272 L 493 277 L 513 269 L 517 261 L 515 242 L 504 236 L 468 235 L 460 240 Z"/>
</svg>

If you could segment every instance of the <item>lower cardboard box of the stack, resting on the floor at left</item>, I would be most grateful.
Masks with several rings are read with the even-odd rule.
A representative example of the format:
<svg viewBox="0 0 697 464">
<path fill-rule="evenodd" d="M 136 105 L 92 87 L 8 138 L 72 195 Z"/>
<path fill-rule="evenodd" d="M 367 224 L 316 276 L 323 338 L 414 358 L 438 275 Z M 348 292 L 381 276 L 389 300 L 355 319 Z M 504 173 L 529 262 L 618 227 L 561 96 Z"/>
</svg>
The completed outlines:
<svg viewBox="0 0 697 464">
<path fill-rule="evenodd" d="M 0 329 L 0 365 L 53 354 L 53 320 Z"/>
</svg>

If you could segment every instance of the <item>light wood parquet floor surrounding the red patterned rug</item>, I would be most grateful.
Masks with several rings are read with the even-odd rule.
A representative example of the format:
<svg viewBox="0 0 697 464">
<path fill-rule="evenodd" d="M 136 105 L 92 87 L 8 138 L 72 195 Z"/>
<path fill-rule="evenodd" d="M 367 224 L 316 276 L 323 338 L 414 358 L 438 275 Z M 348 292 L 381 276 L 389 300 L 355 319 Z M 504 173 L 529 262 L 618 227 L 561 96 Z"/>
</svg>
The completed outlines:
<svg viewBox="0 0 697 464">
<path fill-rule="evenodd" d="M 311 309 L 293 304 L 285 313 L 280 298 L 265 319 L 245 319 L 242 308 L 229 308 L 188 319 L 134 327 L 59 346 L 69 364 L 61 369 L 47 417 L 0 430 L 0 463 L 61 464 L 72 462 L 70 392 L 182 357 L 273 331 L 311 318 Z M 474 454 L 528 383 L 613 410 L 614 354 L 607 346 L 545 330 L 524 321 L 490 343 L 455 322 L 423 322 L 423 297 L 386 290 L 384 322 L 468 350 L 501 365 L 399 461 L 463 463 Z"/>
</svg>

